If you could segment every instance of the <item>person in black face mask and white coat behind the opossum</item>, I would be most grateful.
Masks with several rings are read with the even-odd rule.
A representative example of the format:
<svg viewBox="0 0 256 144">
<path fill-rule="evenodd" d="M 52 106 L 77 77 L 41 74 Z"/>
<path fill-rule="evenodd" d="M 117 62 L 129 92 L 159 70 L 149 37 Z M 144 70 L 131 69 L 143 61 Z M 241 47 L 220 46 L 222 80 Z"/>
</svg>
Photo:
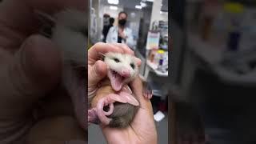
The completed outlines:
<svg viewBox="0 0 256 144">
<path fill-rule="evenodd" d="M 125 43 L 134 48 L 132 30 L 126 26 L 128 14 L 122 11 L 118 14 L 118 26 L 112 26 L 106 35 L 106 43 Z"/>
</svg>

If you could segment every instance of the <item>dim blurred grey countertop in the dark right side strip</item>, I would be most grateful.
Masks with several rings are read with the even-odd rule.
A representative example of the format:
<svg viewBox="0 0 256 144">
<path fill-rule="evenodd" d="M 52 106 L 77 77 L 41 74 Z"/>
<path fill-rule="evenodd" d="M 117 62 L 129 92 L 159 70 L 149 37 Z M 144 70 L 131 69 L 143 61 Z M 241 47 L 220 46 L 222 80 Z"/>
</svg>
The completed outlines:
<svg viewBox="0 0 256 144">
<path fill-rule="evenodd" d="M 222 65 L 224 56 L 226 58 L 239 59 L 239 61 L 242 62 L 240 63 L 241 65 L 254 61 L 254 50 L 240 50 L 233 53 L 224 51 L 225 46 L 213 46 L 210 43 L 202 42 L 196 34 L 189 34 L 188 40 L 190 50 L 192 50 L 199 58 L 202 58 L 203 61 L 210 64 L 209 66 L 212 72 L 217 74 L 222 82 L 232 83 L 233 85 L 255 85 L 256 68 L 247 74 L 238 74 L 235 69 L 232 71 L 229 67 Z M 223 55 L 224 52 L 225 55 Z"/>
</svg>

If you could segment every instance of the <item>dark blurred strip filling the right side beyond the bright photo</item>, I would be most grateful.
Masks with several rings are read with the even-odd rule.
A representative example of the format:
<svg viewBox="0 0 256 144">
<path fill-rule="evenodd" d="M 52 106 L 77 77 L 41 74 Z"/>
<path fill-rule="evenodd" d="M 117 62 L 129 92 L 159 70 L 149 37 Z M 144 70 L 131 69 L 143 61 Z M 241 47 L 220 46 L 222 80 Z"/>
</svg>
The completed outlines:
<svg viewBox="0 0 256 144">
<path fill-rule="evenodd" d="M 255 143 L 256 2 L 169 5 L 170 143 Z"/>
</svg>

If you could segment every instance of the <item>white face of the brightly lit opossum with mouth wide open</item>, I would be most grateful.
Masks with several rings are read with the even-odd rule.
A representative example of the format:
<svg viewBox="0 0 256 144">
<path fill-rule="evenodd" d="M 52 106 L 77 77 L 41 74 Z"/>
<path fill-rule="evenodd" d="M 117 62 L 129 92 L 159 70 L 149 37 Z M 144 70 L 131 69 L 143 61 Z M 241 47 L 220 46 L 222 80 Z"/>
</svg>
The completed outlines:
<svg viewBox="0 0 256 144">
<path fill-rule="evenodd" d="M 134 56 L 109 52 L 105 54 L 104 62 L 108 66 L 108 77 L 114 90 L 133 80 L 138 74 L 138 65 Z"/>
</svg>

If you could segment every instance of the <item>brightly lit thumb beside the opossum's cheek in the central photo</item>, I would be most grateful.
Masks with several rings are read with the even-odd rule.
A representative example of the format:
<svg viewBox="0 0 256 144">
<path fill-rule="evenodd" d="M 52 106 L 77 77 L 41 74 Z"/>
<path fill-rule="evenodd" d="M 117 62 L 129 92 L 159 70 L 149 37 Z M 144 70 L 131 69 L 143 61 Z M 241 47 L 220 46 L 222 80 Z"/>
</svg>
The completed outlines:
<svg viewBox="0 0 256 144">
<path fill-rule="evenodd" d="M 89 66 L 88 73 L 88 85 L 89 87 L 94 87 L 98 85 L 98 82 L 102 78 L 106 77 L 106 63 L 98 60 L 93 66 Z"/>
</svg>

